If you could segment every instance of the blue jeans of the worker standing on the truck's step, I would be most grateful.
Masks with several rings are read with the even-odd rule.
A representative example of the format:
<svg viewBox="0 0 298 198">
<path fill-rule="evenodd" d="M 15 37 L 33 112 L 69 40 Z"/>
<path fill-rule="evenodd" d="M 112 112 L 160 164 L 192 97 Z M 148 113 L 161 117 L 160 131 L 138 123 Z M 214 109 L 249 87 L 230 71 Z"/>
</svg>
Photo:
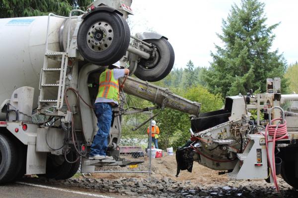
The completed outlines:
<svg viewBox="0 0 298 198">
<path fill-rule="evenodd" d="M 108 148 L 108 135 L 112 122 L 112 106 L 107 102 L 95 103 L 95 113 L 97 116 L 98 131 L 91 145 L 89 156 L 104 155 Z"/>
</svg>

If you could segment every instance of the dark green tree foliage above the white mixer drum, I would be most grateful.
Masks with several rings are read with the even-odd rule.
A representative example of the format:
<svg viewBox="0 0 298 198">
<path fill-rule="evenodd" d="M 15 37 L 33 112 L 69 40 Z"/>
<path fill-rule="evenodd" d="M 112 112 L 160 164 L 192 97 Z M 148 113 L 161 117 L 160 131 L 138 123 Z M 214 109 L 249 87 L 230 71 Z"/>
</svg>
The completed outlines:
<svg viewBox="0 0 298 198">
<path fill-rule="evenodd" d="M 0 0 L 0 18 L 40 16 L 48 15 L 50 12 L 69 16 L 72 9 L 84 10 L 83 6 L 92 2 L 92 0 Z"/>
</svg>

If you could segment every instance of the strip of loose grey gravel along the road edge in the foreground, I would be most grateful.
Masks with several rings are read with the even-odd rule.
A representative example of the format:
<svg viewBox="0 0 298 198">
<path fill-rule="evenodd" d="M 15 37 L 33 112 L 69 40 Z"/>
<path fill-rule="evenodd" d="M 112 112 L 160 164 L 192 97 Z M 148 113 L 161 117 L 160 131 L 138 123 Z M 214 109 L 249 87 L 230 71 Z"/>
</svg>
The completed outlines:
<svg viewBox="0 0 298 198">
<path fill-rule="evenodd" d="M 194 184 L 170 178 L 120 178 L 114 180 L 71 178 L 63 181 L 46 180 L 46 183 L 94 189 L 103 193 L 141 198 L 298 198 L 293 190 L 279 179 L 280 193 L 272 184 L 263 181 L 230 181 L 224 184 Z"/>
</svg>

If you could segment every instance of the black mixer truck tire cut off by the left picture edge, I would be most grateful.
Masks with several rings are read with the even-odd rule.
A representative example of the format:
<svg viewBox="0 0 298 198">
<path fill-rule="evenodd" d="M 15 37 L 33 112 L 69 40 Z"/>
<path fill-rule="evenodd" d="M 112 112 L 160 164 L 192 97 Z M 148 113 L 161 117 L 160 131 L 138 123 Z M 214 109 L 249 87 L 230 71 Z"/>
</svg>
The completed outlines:
<svg viewBox="0 0 298 198">
<path fill-rule="evenodd" d="M 17 147 L 12 139 L 0 134 L 0 184 L 11 182 L 18 169 Z"/>
</svg>

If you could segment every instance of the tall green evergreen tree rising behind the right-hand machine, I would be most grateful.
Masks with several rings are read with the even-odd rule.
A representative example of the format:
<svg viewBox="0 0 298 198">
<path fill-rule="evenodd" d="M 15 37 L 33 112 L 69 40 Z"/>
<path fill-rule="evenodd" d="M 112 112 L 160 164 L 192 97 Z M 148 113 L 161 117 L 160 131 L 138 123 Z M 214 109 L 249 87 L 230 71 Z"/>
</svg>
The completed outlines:
<svg viewBox="0 0 298 198">
<path fill-rule="evenodd" d="M 241 7 L 232 5 L 223 20 L 223 34 L 218 36 L 224 47 L 216 45 L 211 67 L 204 74 L 213 93 L 238 95 L 249 89 L 265 92 L 266 78 L 274 77 L 281 77 L 282 87 L 287 86 L 284 57 L 278 50 L 270 51 L 275 38 L 272 31 L 279 24 L 267 27 L 264 6 L 259 0 L 242 0 Z"/>
</svg>

